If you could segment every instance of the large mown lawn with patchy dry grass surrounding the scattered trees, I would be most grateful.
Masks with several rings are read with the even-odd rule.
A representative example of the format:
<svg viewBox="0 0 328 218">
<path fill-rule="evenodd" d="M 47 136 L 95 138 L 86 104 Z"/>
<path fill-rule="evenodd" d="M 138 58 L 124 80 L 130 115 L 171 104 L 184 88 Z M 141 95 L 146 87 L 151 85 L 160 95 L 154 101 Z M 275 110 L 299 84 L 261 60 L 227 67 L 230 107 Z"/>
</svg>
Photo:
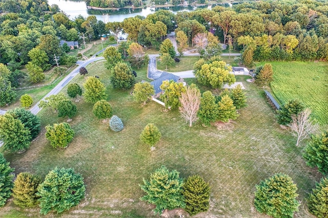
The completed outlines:
<svg viewBox="0 0 328 218">
<path fill-rule="evenodd" d="M 83 175 L 85 200 L 48 217 L 159 217 L 152 206 L 139 200 L 144 192 L 138 184 L 161 165 L 177 169 L 183 178 L 198 174 L 210 183 L 210 210 L 197 217 L 264 217 L 254 208 L 255 185 L 277 172 L 287 173 L 297 183 L 301 206 L 295 217 L 311 217 L 304 198 L 321 175 L 305 165 L 302 148 L 279 127 L 263 91 L 247 83 L 248 77 L 237 77 L 247 88 L 248 106 L 230 128 L 218 130 L 200 122 L 188 127 L 177 110 L 164 113 L 155 102 L 145 106 L 134 102 L 131 90 L 113 90 L 103 63 L 90 64 L 88 76 L 98 75 L 105 83 L 113 114 L 122 119 L 124 130 L 112 132 L 108 123 L 93 116 L 92 104 L 81 100 L 70 122 L 75 137 L 69 147 L 57 150 L 46 140 L 47 124 L 66 121 L 46 108 L 39 113 L 42 132 L 31 147 L 24 154 L 5 154 L 15 173 L 30 171 L 44 178 L 58 166 L 74 167 Z M 137 75 L 137 81 L 146 79 L 146 68 Z M 72 82 L 81 85 L 84 81 L 83 76 L 76 76 Z M 139 140 L 150 122 L 162 134 L 155 151 Z M 43 217 L 38 212 L 38 208 L 20 209 L 12 201 L 0 208 L 3 217 Z"/>
</svg>

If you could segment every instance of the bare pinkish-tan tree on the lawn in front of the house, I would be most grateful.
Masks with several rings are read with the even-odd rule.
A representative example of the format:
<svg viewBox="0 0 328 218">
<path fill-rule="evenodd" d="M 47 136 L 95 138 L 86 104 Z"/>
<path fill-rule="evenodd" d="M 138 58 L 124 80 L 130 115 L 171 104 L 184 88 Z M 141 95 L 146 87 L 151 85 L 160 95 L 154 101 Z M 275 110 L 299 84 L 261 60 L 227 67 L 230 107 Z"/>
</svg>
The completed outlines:
<svg viewBox="0 0 328 218">
<path fill-rule="evenodd" d="M 179 98 L 181 106 L 179 106 L 180 114 L 189 126 L 198 120 L 197 113 L 200 105 L 200 91 L 195 84 L 191 84 L 185 93 L 181 93 Z"/>
</svg>

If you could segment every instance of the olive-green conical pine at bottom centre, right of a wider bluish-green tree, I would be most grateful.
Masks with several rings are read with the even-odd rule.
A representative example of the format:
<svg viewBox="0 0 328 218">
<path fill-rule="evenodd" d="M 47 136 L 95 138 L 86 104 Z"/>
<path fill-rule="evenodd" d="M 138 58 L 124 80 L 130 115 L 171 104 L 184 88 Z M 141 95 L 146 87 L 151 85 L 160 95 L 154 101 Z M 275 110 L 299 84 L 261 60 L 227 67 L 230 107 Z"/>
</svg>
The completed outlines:
<svg viewBox="0 0 328 218">
<path fill-rule="evenodd" d="M 182 194 L 185 197 L 185 210 L 190 215 L 207 211 L 210 206 L 210 185 L 200 176 L 195 175 L 188 177 L 183 183 Z"/>
</svg>

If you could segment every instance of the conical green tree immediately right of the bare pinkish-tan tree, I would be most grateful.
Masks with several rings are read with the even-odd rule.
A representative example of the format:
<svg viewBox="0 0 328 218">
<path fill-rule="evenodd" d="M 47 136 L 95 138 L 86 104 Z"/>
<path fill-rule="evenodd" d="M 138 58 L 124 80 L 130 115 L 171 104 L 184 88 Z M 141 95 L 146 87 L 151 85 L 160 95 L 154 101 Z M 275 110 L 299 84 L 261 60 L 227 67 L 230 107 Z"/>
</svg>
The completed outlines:
<svg viewBox="0 0 328 218">
<path fill-rule="evenodd" d="M 218 105 L 215 103 L 215 97 L 211 91 L 202 94 L 198 117 L 205 125 L 210 125 L 211 122 L 218 119 Z"/>
</svg>

